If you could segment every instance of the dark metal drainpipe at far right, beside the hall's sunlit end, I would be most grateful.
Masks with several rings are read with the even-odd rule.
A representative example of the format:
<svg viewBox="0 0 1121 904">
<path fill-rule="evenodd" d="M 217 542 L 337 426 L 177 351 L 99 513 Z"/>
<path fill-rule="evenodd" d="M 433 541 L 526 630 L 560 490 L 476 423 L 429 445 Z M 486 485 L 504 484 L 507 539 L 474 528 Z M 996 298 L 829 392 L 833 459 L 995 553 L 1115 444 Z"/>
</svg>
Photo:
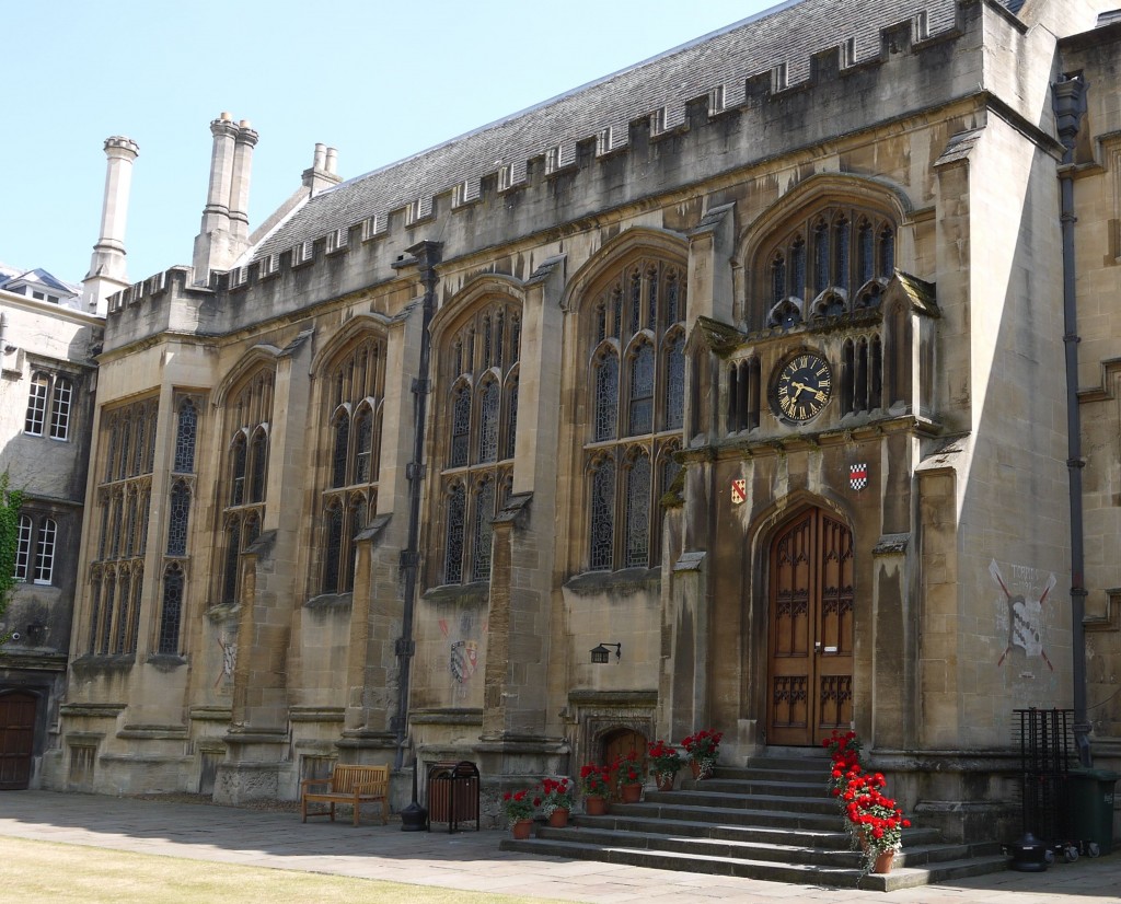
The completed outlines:
<svg viewBox="0 0 1121 904">
<path fill-rule="evenodd" d="M 1085 552 L 1082 519 L 1082 412 L 1078 410 L 1078 336 L 1074 269 L 1074 145 L 1086 112 L 1086 83 L 1081 76 L 1063 77 L 1051 85 L 1051 108 L 1063 142 L 1059 167 L 1063 227 L 1063 343 L 1066 348 L 1067 473 L 1071 483 L 1071 645 L 1074 683 L 1074 744 L 1078 762 L 1093 765 L 1090 723 L 1086 720 Z"/>
</svg>

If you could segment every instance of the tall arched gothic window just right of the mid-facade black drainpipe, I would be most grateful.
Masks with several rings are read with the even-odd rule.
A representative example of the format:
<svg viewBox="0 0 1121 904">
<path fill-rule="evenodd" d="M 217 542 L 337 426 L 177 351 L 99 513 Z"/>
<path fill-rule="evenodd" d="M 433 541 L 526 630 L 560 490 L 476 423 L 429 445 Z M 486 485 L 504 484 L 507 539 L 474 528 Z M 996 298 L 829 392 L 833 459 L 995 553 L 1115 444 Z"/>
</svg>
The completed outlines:
<svg viewBox="0 0 1121 904">
<path fill-rule="evenodd" d="M 521 314 L 507 298 L 484 298 L 441 339 L 435 414 L 442 445 L 442 492 L 434 501 L 441 528 L 430 580 L 487 581 L 498 488 L 512 474 L 517 448 Z"/>
</svg>

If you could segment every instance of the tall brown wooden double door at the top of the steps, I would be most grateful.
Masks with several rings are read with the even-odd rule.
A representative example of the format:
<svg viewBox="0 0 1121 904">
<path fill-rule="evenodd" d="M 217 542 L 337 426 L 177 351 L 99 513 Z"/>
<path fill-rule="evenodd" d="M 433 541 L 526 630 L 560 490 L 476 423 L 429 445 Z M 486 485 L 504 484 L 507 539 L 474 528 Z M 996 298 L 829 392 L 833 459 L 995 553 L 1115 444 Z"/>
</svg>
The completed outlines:
<svg viewBox="0 0 1121 904">
<path fill-rule="evenodd" d="M 779 529 L 769 568 L 767 740 L 816 745 L 852 721 L 852 531 L 806 509 Z"/>
</svg>

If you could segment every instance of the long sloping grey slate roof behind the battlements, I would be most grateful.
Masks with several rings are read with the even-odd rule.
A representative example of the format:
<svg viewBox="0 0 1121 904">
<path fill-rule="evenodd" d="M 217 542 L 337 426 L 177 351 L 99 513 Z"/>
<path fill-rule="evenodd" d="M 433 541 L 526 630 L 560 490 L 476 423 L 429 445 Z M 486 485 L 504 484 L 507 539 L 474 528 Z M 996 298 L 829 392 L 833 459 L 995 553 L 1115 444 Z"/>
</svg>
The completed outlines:
<svg viewBox="0 0 1121 904">
<path fill-rule="evenodd" d="M 1023 0 L 1000 0 L 1011 12 Z M 661 108 L 667 125 L 679 123 L 685 103 L 725 86 L 725 105 L 743 100 L 744 81 L 787 65 L 788 84 L 805 81 L 810 57 L 847 41 L 853 62 L 880 52 L 883 28 L 926 12 L 935 36 L 953 27 L 956 0 L 790 0 L 657 57 L 577 87 L 507 119 L 333 186 L 306 202 L 252 251 L 257 259 L 279 253 L 417 199 L 430 199 L 463 183 L 493 174 L 495 161 L 525 162 L 560 146 L 614 127 L 626 140 L 627 123 Z M 618 138 L 617 138 L 618 142 Z"/>
</svg>

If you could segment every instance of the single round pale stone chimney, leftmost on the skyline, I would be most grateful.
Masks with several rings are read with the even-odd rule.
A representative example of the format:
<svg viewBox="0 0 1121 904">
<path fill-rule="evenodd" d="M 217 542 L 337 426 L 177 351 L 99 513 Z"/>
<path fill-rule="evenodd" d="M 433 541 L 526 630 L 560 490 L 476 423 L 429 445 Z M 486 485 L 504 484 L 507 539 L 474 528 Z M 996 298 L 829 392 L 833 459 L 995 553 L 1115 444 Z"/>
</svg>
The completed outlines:
<svg viewBox="0 0 1121 904">
<path fill-rule="evenodd" d="M 93 246 L 90 272 L 82 280 L 82 304 L 86 310 L 105 315 L 105 299 L 127 289 L 124 269 L 124 224 L 132 187 L 132 161 L 140 153 L 137 142 L 123 136 L 105 139 L 105 197 L 101 206 L 101 237 Z"/>
</svg>

